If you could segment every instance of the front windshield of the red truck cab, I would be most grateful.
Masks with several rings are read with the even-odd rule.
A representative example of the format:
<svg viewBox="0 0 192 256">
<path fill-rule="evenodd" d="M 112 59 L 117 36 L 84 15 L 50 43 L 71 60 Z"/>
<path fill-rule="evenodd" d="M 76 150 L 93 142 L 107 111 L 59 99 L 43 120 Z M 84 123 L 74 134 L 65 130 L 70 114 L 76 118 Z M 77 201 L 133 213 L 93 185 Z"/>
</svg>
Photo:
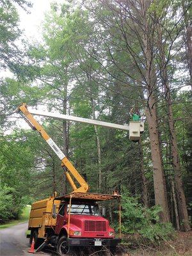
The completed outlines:
<svg viewBox="0 0 192 256">
<path fill-rule="evenodd" d="M 67 213 L 68 209 L 69 205 L 67 205 Z M 90 204 L 72 204 L 70 207 L 70 214 L 100 216 L 99 206 Z"/>
</svg>

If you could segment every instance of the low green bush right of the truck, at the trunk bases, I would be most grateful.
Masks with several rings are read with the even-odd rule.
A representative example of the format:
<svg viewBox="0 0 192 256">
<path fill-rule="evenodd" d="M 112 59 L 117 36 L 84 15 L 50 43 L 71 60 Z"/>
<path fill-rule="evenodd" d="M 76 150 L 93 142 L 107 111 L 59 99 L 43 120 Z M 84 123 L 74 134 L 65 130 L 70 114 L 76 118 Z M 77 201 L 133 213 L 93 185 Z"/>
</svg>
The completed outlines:
<svg viewBox="0 0 192 256">
<path fill-rule="evenodd" d="M 123 193 L 122 196 L 122 231 L 127 234 L 140 234 L 150 241 L 167 240 L 174 234 L 171 223 L 160 223 L 158 205 L 143 207 L 139 198 Z"/>
</svg>

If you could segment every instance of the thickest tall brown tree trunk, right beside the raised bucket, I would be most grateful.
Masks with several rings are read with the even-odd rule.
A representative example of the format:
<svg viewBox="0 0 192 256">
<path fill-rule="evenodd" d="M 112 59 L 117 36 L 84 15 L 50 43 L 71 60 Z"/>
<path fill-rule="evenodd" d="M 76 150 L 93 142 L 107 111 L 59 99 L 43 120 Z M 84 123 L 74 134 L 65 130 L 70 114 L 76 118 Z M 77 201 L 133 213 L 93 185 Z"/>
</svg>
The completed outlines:
<svg viewBox="0 0 192 256">
<path fill-rule="evenodd" d="M 157 131 L 157 111 L 156 111 L 156 74 L 153 68 L 153 52 L 151 47 L 151 39 L 149 35 L 147 10 L 150 1 L 141 1 L 141 13 L 143 19 L 143 51 L 145 55 L 145 68 L 146 68 L 146 86 L 147 86 L 147 109 L 146 118 L 148 122 L 148 131 L 150 137 L 151 156 L 153 164 L 153 177 L 154 177 L 154 193 L 156 205 L 161 205 L 162 211 L 159 213 L 160 219 L 163 222 L 170 221 L 170 215 L 168 211 L 166 188 L 164 188 L 164 171 L 163 163 L 161 159 L 161 150 L 159 145 L 159 134 Z"/>
</svg>

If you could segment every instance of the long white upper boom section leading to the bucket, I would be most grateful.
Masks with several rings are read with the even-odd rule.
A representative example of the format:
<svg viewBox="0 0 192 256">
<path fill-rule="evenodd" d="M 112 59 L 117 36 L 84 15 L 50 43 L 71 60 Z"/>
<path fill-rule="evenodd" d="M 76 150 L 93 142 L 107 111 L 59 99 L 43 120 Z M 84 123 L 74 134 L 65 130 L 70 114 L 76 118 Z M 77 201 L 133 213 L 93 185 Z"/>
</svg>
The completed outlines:
<svg viewBox="0 0 192 256">
<path fill-rule="evenodd" d="M 49 116 L 49 117 L 53 117 L 53 118 L 56 118 L 56 119 L 64 119 L 64 120 L 69 120 L 69 121 L 74 121 L 74 122 L 100 125 L 100 126 L 104 126 L 104 127 L 129 131 L 129 125 L 113 124 L 113 123 L 102 122 L 102 121 L 99 121 L 99 120 L 93 120 L 93 119 L 82 118 L 82 117 L 77 117 L 77 116 L 63 115 L 63 114 L 60 114 L 60 113 L 39 111 L 39 110 L 31 109 L 31 108 L 29 109 L 29 112 L 33 115 Z"/>
</svg>

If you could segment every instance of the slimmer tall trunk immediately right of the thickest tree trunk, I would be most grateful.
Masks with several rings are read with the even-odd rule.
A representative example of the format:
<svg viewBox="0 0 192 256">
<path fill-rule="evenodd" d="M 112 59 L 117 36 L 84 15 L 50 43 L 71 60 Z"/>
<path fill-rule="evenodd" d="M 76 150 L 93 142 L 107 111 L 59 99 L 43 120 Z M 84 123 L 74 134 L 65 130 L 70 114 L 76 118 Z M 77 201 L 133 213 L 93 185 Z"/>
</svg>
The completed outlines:
<svg viewBox="0 0 192 256">
<path fill-rule="evenodd" d="M 161 30 L 158 31 L 159 35 L 159 52 L 161 56 L 161 78 L 164 86 L 164 95 L 166 99 L 167 109 L 168 109 L 168 125 L 170 130 L 170 147 L 172 151 L 172 163 L 173 170 L 175 172 L 175 188 L 177 195 L 177 203 L 179 207 L 179 216 L 180 216 L 180 227 L 183 231 L 190 230 L 188 209 L 186 205 L 186 197 L 184 195 L 184 189 L 182 184 L 182 174 L 180 170 L 180 161 L 179 161 L 179 151 L 177 147 L 177 138 L 175 133 L 175 127 L 173 122 L 173 109 L 172 109 L 172 99 L 170 95 L 170 86 L 168 83 L 168 73 L 166 67 L 166 56 L 164 44 L 162 41 Z"/>
</svg>

